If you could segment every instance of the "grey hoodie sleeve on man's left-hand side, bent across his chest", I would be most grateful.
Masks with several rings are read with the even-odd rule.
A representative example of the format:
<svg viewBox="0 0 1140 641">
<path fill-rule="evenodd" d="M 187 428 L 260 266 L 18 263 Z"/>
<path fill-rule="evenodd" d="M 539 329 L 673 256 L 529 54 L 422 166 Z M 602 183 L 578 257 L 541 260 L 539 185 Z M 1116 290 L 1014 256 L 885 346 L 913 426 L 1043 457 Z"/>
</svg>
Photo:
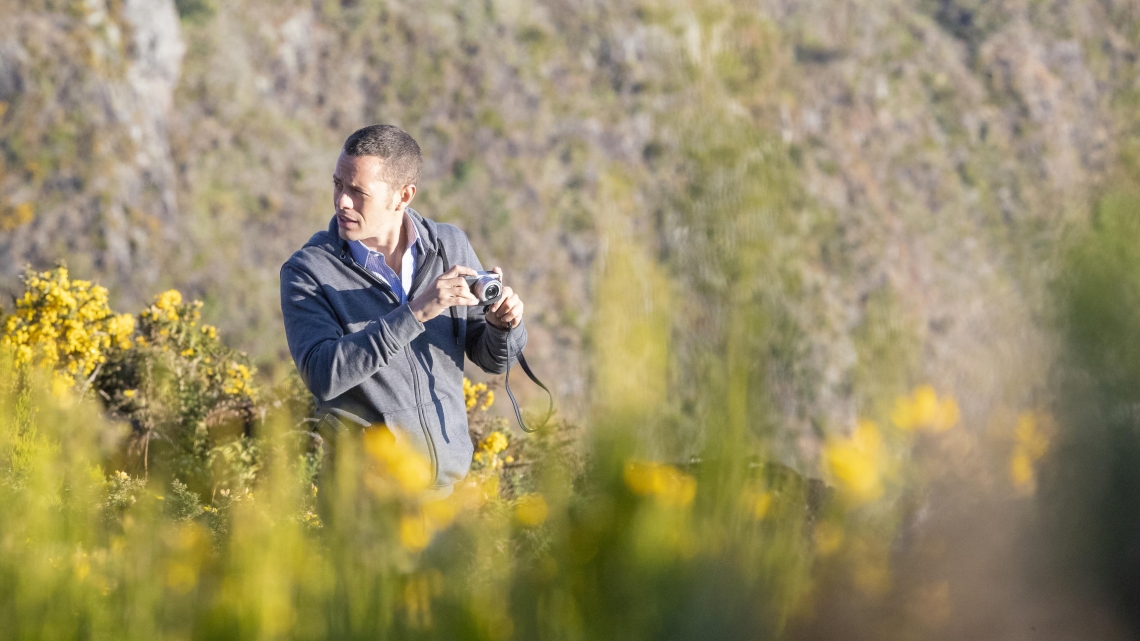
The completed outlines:
<svg viewBox="0 0 1140 641">
<path fill-rule="evenodd" d="M 408 303 L 345 334 L 317 281 L 282 267 L 282 316 L 290 354 L 309 391 L 327 401 L 360 384 L 424 331 Z"/>
</svg>

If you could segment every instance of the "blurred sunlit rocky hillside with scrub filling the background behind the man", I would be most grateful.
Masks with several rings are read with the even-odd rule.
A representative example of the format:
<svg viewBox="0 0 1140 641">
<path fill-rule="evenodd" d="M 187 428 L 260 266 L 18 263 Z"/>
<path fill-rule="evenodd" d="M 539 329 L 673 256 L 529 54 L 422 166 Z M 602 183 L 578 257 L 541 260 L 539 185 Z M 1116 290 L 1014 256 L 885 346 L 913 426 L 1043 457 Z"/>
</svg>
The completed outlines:
<svg viewBox="0 0 1140 641">
<path fill-rule="evenodd" d="M 1058 250 L 1137 157 L 1114 0 L 0 9 L 7 291 L 58 259 L 124 309 L 178 286 L 279 376 L 278 267 L 344 137 L 396 123 L 416 208 L 504 266 L 568 413 L 622 389 L 600 305 L 663 318 L 677 453 L 736 412 L 811 460 L 920 381 L 967 423 L 1025 403 Z"/>
</svg>

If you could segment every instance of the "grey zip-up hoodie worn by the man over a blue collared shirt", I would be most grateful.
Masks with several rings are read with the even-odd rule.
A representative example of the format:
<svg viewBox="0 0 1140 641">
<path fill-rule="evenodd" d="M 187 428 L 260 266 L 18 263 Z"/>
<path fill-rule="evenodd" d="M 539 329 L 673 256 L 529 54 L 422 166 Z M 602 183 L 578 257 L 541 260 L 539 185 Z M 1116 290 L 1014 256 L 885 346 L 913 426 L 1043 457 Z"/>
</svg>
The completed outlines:
<svg viewBox="0 0 1140 641">
<path fill-rule="evenodd" d="M 482 269 L 457 227 L 410 208 L 408 214 L 426 246 L 409 301 L 450 267 Z M 505 372 L 507 336 L 512 365 L 527 344 L 522 323 L 508 334 L 483 319 L 482 306 L 420 323 L 388 283 L 352 259 L 336 217 L 285 261 L 280 277 L 288 349 L 316 397 L 317 416 L 388 425 L 431 460 L 432 488 L 448 492 L 471 466 L 464 355 L 486 372 Z"/>
</svg>

